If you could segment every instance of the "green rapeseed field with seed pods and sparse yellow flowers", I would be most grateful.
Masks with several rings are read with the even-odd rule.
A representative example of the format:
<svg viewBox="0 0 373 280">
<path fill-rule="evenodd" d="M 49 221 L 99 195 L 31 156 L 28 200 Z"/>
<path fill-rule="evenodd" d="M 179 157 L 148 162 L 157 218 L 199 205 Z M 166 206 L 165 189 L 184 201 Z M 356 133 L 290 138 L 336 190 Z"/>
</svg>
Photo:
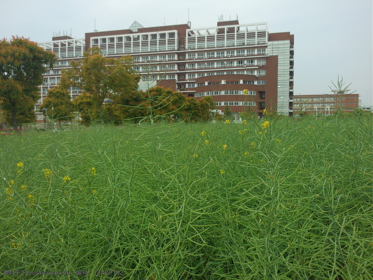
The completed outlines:
<svg viewBox="0 0 373 280">
<path fill-rule="evenodd" d="M 0 147 L 1 271 L 72 272 L 23 279 L 372 279 L 371 117 L 70 127 Z"/>
</svg>

